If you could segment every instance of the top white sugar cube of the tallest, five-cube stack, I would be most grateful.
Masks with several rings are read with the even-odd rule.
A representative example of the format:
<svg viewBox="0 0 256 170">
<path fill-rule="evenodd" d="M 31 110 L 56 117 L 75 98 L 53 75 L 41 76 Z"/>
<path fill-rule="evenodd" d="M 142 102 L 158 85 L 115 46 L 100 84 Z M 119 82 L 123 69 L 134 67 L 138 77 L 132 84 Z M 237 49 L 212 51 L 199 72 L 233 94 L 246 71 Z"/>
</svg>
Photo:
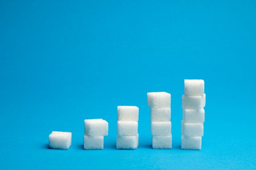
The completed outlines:
<svg viewBox="0 0 256 170">
<path fill-rule="evenodd" d="M 187 96 L 202 96 L 204 80 L 184 80 L 184 94 Z"/>
</svg>

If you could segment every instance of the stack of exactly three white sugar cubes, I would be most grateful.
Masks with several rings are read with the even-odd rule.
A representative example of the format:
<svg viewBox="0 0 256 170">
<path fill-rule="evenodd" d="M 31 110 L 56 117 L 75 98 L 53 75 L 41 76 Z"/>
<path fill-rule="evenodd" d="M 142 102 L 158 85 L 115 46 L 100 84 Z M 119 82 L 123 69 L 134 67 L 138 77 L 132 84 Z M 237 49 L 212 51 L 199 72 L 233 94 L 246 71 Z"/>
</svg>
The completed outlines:
<svg viewBox="0 0 256 170">
<path fill-rule="evenodd" d="M 139 145 L 139 108 L 136 106 L 117 107 L 117 149 L 136 149 Z"/>
</svg>

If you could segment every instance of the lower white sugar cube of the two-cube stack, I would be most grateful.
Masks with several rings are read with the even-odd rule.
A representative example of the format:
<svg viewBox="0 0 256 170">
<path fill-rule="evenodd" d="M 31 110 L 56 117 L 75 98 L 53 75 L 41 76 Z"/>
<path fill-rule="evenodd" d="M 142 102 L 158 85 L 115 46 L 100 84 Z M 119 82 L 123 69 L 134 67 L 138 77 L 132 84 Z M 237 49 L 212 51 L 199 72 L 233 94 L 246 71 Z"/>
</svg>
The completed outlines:
<svg viewBox="0 0 256 170">
<path fill-rule="evenodd" d="M 104 148 L 103 136 L 88 136 L 84 134 L 84 149 L 95 150 Z"/>
</svg>

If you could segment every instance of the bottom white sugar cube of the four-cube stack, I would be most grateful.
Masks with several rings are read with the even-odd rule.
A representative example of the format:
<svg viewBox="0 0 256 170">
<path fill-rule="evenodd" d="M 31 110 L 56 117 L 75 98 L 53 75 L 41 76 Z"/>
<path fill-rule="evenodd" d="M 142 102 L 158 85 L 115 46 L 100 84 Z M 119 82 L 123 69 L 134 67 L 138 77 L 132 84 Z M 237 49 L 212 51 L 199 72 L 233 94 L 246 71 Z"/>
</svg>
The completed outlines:
<svg viewBox="0 0 256 170">
<path fill-rule="evenodd" d="M 152 136 L 152 148 L 154 149 L 171 149 L 172 135 L 169 136 Z"/>
</svg>

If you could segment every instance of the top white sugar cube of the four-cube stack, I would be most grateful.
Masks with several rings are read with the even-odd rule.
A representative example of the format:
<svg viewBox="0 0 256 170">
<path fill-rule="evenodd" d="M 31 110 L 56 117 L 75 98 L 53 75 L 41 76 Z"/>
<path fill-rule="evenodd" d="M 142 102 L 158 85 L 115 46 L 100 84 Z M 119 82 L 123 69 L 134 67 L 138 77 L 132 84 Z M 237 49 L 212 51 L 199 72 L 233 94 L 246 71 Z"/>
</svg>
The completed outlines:
<svg viewBox="0 0 256 170">
<path fill-rule="evenodd" d="M 155 108 L 171 107 L 171 94 L 166 92 L 151 92 L 147 94 L 148 106 Z"/>
</svg>

